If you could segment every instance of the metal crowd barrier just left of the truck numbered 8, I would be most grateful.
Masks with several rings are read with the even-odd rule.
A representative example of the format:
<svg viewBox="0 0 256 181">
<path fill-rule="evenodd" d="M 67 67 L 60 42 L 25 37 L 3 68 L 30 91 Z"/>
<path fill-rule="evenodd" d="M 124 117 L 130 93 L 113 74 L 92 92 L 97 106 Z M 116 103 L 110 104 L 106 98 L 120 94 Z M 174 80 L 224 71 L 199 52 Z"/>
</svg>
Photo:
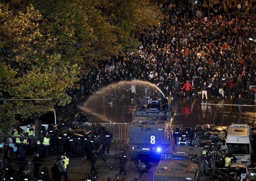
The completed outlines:
<svg viewBox="0 0 256 181">
<path fill-rule="evenodd" d="M 130 123 L 101 123 L 113 134 L 113 140 L 128 141 Z"/>
</svg>

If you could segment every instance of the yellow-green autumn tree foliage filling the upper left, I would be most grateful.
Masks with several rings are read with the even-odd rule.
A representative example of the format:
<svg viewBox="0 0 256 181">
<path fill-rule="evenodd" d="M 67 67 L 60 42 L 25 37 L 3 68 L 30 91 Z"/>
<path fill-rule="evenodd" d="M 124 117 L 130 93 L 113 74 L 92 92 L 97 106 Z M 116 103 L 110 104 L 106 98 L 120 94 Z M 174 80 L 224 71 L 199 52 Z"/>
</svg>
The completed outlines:
<svg viewBox="0 0 256 181">
<path fill-rule="evenodd" d="M 97 59 L 136 51 L 134 31 L 163 15 L 148 0 L 0 0 L 0 129 L 70 102 L 66 91 Z"/>
</svg>

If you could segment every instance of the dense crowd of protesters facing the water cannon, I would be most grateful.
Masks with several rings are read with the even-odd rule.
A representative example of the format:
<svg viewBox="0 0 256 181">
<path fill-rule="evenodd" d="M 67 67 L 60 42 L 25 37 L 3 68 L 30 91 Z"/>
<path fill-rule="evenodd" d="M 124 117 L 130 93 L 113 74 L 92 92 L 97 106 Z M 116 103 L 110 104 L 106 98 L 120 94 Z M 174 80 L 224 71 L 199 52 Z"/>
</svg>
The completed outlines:
<svg viewBox="0 0 256 181">
<path fill-rule="evenodd" d="M 203 91 L 212 97 L 246 93 L 250 99 L 250 85 L 256 85 L 255 1 L 247 6 L 247 1 L 240 2 L 242 7 L 239 1 L 214 2 L 210 8 L 209 1 L 182 4 L 161 5 L 169 10 L 164 21 L 135 33 L 142 44 L 138 54 L 124 50 L 104 62 L 95 61 L 71 96 L 88 97 L 112 83 L 138 79 L 156 84 L 166 95 L 181 92 L 188 82 L 192 88 L 185 86 L 186 98 L 206 86 Z"/>
</svg>

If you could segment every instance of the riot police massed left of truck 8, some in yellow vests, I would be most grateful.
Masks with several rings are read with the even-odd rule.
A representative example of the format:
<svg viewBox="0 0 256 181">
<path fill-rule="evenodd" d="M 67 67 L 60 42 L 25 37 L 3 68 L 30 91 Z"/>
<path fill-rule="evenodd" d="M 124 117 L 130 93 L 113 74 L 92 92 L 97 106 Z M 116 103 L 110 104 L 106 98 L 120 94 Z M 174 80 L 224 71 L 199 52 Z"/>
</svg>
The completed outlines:
<svg viewBox="0 0 256 181">
<path fill-rule="evenodd" d="M 33 136 L 33 131 L 35 131 L 33 126 L 29 124 L 26 132 L 20 127 L 17 127 L 13 130 L 12 135 Z M 61 162 L 56 163 L 52 168 L 53 177 L 55 176 L 55 180 L 56 178 L 61 179 L 62 175 L 64 175 L 65 180 L 68 180 L 67 169 L 70 158 L 89 159 L 92 169 L 91 174 L 86 180 L 97 180 L 98 176 L 96 175 L 97 171 L 95 169 L 96 159 L 98 156 L 109 153 L 111 140 L 113 138 L 110 131 L 107 130 L 106 127 L 102 127 L 99 123 L 92 126 L 83 125 L 79 127 L 77 125 L 72 126 L 71 122 L 64 120 L 61 120 L 60 123 L 56 125 L 49 124 L 47 129 L 42 126 L 41 136 L 41 140 L 35 142 L 36 154 L 38 157 L 40 154 L 42 159 L 47 158 L 49 152 L 58 152 L 60 156 Z M 28 148 L 31 148 L 33 141 L 30 139 L 21 139 L 17 137 L 13 139 L 13 142 L 17 145 L 18 150 L 21 149 L 21 147 L 25 147 L 26 150 L 30 150 Z M 121 174 L 126 175 L 124 165 L 127 160 L 123 150 L 121 151 L 121 155 L 118 157 L 121 163 Z M 66 171 L 61 170 L 62 163 Z M 9 169 L 10 168 L 11 165 L 9 165 Z M 22 170 L 22 168 L 19 170 Z M 58 175 L 57 172 L 60 174 Z M 58 175 L 58 177 L 56 175 Z M 5 180 L 8 180 L 10 177 L 13 178 L 13 174 L 6 174 Z M 44 167 L 37 178 L 51 180 L 48 173 L 48 168 Z M 26 177 L 26 179 L 28 178 Z"/>
</svg>

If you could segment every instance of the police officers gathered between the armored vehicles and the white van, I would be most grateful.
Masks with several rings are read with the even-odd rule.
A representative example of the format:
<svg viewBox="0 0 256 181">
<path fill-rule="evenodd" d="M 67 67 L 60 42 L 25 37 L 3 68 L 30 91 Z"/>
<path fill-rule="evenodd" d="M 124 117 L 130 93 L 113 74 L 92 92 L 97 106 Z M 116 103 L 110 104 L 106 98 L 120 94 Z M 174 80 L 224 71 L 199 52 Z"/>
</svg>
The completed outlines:
<svg viewBox="0 0 256 181">
<path fill-rule="evenodd" d="M 175 139 L 175 144 L 179 144 L 180 142 L 188 142 L 188 145 L 191 144 L 192 137 L 195 132 L 202 138 L 202 140 L 208 140 L 209 139 L 209 130 L 207 128 L 202 128 L 199 125 L 197 125 L 196 130 L 193 126 L 186 127 L 182 131 L 180 131 L 179 128 L 176 128 L 175 132 L 173 133 L 173 138 Z M 212 137 L 211 141 L 217 141 L 214 137 Z M 219 140 L 218 140 L 219 141 Z M 209 145 L 209 142 L 206 144 Z M 221 150 L 220 152 L 217 152 L 217 147 L 212 146 L 204 146 L 202 148 L 202 156 L 204 157 L 204 170 L 202 172 L 204 173 L 204 176 L 210 176 L 212 175 L 212 179 L 220 179 L 220 177 L 225 177 L 225 180 L 231 180 L 231 181 L 240 181 L 241 180 L 241 171 L 239 170 L 239 167 L 237 166 L 236 169 L 230 169 L 231 162 L 236 161 L 236 157 L 233 155 L 233 153 L 230 151 L 226 154 L 227 150 Z M 209 169 L 212 169 L 210 172 Z M 202 173 L 202 174 L 203 174 Z M 225 174 L 226 173 L 226 174 Z"/>
</svg>

